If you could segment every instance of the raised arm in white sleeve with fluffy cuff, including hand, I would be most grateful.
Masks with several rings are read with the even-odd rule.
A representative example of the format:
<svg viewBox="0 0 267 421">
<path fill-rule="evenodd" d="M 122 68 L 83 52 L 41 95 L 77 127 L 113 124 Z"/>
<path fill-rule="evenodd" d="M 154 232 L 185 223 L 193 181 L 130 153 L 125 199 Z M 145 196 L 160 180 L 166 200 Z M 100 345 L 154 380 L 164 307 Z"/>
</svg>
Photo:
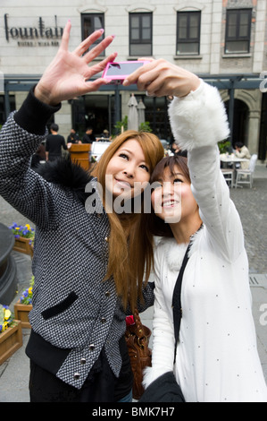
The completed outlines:
<svg viewBox="0 0 267 421">
<path fill-rule="evenodd" d="M 126 84 L 137 81 L 148 95 L 171 95 L 171 131 L 182 150 L 188 150 L 188 168 L 199 214 L 224 259 L 235 261 L 244 236 L 229 188 L 221 174 L 217 143 L 229 136 L 220 93 L 195 74 L 155 60 L 132 73 Z"/>
</svg>

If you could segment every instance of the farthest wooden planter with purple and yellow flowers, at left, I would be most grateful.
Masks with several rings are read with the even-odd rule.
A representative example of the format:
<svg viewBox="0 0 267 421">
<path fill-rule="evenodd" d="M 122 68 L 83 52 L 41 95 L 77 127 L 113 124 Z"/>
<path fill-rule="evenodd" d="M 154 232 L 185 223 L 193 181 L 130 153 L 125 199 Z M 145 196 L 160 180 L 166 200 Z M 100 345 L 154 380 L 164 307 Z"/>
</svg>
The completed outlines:
<svg viewBox="0 0 267 421">
<path fill-rule="evenodd" d="M 13 225 L 9 228 L 12 230 L 13 235 L 15 236 L 15 244 L 13 246 L 13 250 L 16 252 L 29 254 L 30 257 L 32 257 L 35 236 L 34 229 L 30 228 L 29 224 L 21 226 L 17 225 L 16 223 L 13 223 Z"/>
</svg>

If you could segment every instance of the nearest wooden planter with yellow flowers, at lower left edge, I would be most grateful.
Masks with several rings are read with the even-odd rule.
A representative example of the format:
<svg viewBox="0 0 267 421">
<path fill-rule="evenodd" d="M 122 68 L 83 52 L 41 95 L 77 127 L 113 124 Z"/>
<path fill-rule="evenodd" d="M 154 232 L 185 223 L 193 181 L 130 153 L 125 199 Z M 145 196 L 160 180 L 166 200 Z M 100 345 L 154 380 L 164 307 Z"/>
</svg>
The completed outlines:
<svg viewBox="0 0 267 421">
<path fill-rule="evenodd" d="M 7 305 L 0 305 L 0 365 L 21 346 L 21 321 L 14 320 Z"/>
</svg>

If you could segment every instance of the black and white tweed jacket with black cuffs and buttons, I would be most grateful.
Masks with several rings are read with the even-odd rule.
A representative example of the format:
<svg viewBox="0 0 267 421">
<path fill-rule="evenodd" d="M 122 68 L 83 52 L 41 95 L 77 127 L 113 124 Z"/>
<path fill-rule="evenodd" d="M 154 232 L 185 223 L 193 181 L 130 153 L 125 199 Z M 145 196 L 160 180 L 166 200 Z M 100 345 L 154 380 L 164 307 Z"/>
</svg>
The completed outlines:
<svg viewBox="0 0 267 421">
<path fill-rule="evenodd" d="M 126 314 L 113 279 L 103 281 L 109 223 L 100 198 L 96 200 L 102 212 L 85 209 L 85 185 L 94 180 L 70 160 L 60 166 L 51 163 L 42 175 L 29 169 L 54 111 L 30 92 L 21 109 L 9 116 L 0 133 L 0 194 L 36 225 L 29 316 L 39 349 L 36 358 L 79 389 L 102 348 L 119 376 Z M 144 297 L 146 305 L 140 311 L 153 305 L 149 284 Z"/>
</svg>

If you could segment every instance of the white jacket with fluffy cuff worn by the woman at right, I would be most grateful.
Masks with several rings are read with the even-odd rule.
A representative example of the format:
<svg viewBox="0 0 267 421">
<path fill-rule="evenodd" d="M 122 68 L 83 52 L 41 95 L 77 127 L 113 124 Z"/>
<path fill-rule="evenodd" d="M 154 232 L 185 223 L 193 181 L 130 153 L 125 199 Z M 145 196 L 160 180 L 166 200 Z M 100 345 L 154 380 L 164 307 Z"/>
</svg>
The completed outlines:
<svg viewBox="0 0 267 421">
<path fill-rule="evenodd" d="M 193 236 L 183 276 L 176 365 L 171 300 L 187 245 L 163 238 L 155 251 L 153 366 L 145 385 L 173 370 L 187 401 L 267 401 L 243 230 L 220 169 L 217 142 L 229 135 L 220 94 L 201 82 L 174 99 L 169 114 L 176 142 L 188 150 L 204 228 Z"/>
</svg>

